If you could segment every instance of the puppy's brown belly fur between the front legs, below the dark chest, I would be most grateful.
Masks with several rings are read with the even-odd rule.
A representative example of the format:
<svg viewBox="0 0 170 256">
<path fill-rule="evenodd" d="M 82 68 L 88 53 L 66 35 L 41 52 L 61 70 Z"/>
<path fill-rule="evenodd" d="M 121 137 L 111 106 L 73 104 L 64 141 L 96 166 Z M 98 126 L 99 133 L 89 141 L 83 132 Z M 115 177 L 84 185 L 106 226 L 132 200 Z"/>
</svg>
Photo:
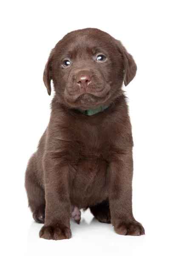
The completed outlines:
<svg viewBox="0 0 170 256">
<path fill-rule="evenodd" d="M 108 164 L 105 160 L 99 159 L 86 159 L 85 162 L 71 166 L 72 185 L 70 198 L 72 204 L 83 208 L 107 197 L 107 166 Z"/>
</svg>

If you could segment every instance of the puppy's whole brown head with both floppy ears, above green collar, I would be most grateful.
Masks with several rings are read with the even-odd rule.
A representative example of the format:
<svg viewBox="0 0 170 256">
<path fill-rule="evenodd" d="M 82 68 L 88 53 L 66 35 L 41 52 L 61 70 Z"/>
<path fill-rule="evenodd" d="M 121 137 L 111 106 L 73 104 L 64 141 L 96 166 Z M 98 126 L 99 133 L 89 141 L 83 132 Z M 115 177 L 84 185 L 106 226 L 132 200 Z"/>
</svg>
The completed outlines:
<svg viewBox="0 0 170 256">
<path fill-rule="evenodd" d="M 60 40 L 45 65 L 43 80 L 69 108 L 110 104 L 136 75 L 136 64 L 120 41 L 99 29 L 81 29 Z"/>
</svg>

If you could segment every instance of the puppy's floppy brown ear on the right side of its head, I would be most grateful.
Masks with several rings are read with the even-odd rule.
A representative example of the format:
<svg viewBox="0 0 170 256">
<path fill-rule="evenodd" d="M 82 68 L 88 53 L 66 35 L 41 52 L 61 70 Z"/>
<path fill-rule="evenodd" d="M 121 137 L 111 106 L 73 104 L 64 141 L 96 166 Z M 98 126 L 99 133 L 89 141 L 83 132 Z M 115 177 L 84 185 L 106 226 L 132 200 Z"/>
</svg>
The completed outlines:
<svg viewBox="0 0 170 256">
<path fill-rule="evenodd" d="M 122 54 L 124 63 L 124 84 L 127 86 L 127 84 L 129 84 L 130 81 L 132 81 L 132 79 L 135 77 L 137 66 L 132 55 L 127 52 L 119 40 L 116 40 L 116 45 L 119 49 L 119 52 Z"/>
</svg>

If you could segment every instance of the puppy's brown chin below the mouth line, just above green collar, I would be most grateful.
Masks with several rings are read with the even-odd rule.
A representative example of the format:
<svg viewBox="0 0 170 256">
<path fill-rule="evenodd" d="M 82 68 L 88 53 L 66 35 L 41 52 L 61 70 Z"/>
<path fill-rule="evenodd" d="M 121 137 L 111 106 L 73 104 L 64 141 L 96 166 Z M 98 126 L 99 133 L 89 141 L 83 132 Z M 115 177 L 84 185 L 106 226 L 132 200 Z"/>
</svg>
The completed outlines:
<svg viewBox="0 0 170 256">
<path fill-rule="evenodd" d="M 71 108 L 87 110 L 91 108 L 99 108 L 100 106 L 107 104 L 110 95 L 110 91 L 103 97 L 98 97 L 91 93 L 83 93 L 73 102 L 71 99 L 66 99 L 66 102 L 70 105 Z"/>
</svg>

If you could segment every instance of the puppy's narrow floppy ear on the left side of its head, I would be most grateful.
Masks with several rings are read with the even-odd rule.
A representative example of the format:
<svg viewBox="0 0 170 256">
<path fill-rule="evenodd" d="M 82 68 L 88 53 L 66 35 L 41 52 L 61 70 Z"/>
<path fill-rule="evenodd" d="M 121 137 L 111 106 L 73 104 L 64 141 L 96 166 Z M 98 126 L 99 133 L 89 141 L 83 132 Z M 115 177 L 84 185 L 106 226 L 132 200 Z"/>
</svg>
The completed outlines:
<svg viewBox="0 0 170 256">
<path fill-rule="evenodd" d="M 51 53 L 49 55 L 49 58 L 45 65 L 45 69 L 43 73 L 43 81 L 44 81 L 45 87 L 47 88 L 48 95 L 51 95 L 51 79 L 52 79 L 51 64 L 53 61 L 53 56 L 54 56 L 54 49 L 51 50 Z"/>
</svg>

